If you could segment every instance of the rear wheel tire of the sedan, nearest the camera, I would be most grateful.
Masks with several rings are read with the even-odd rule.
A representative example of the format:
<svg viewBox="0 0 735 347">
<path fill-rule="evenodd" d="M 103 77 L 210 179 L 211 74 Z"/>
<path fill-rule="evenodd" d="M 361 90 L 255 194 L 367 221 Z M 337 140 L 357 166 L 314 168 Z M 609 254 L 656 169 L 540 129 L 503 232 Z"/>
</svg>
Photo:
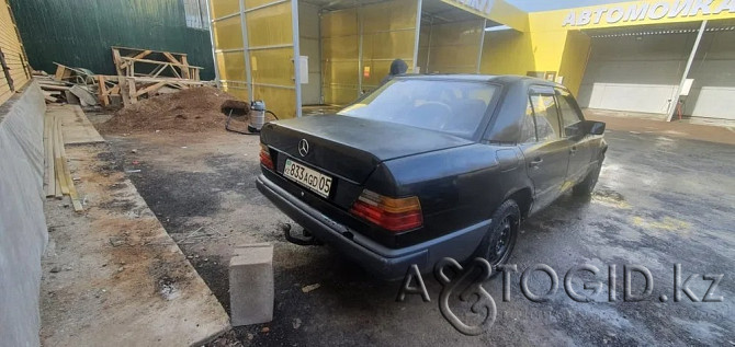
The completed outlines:
<svg viewBox="0 0 735 347">
<path fill-rule="evenodd" d="M 496 275 L 498 265 L 506 264 L 516 246 L 520 230 L 521 210 L 518 204 L 508 199 L 493 213 L 487 233 L 475 252 L 475 257 L 482 257 L 490 263 L 493 275 Z"/>
</svg>

